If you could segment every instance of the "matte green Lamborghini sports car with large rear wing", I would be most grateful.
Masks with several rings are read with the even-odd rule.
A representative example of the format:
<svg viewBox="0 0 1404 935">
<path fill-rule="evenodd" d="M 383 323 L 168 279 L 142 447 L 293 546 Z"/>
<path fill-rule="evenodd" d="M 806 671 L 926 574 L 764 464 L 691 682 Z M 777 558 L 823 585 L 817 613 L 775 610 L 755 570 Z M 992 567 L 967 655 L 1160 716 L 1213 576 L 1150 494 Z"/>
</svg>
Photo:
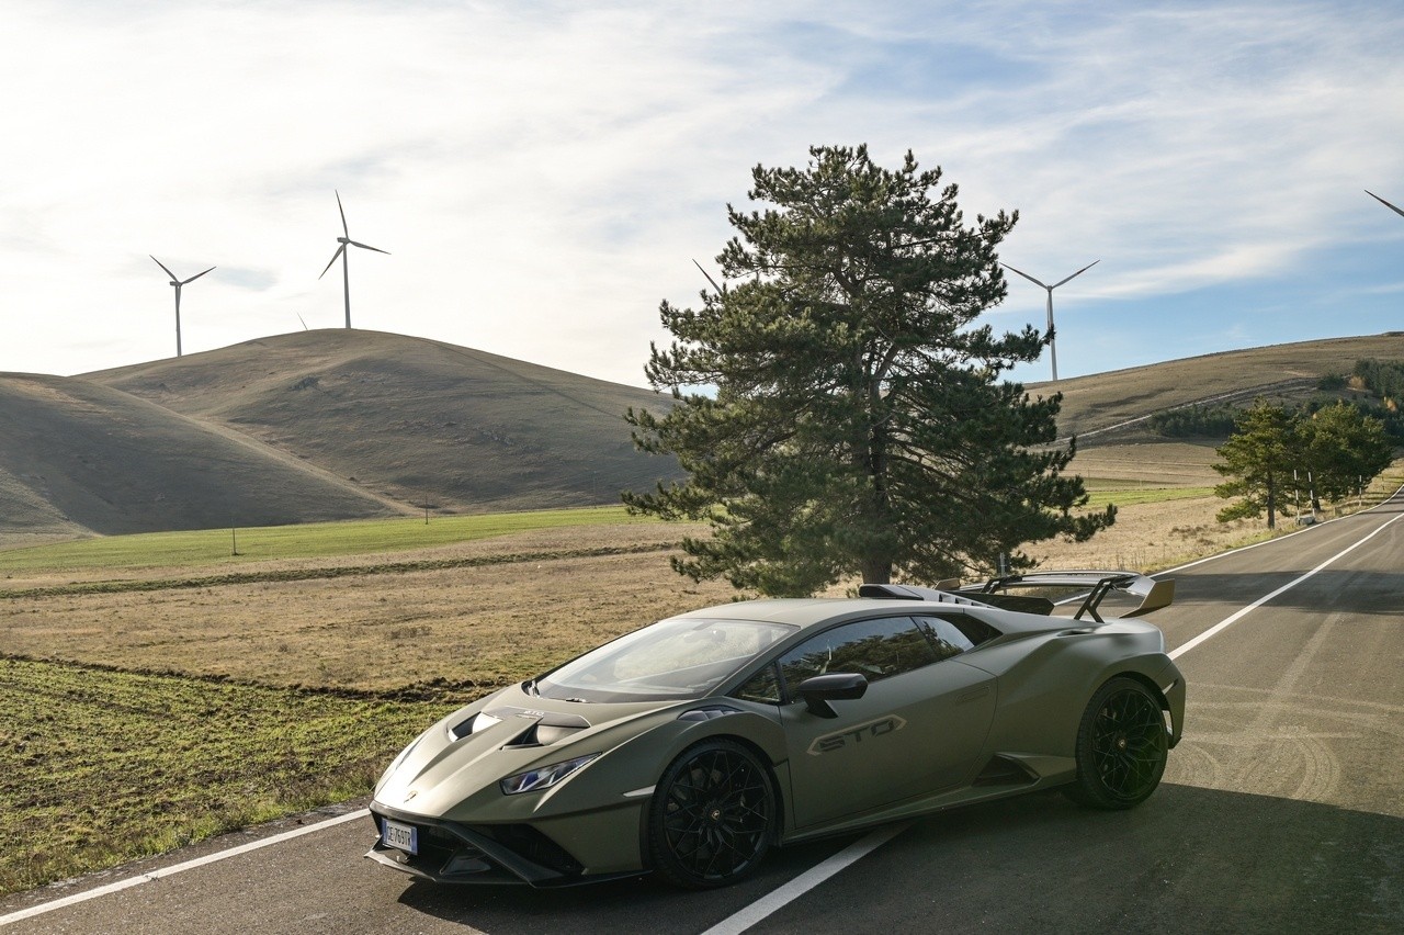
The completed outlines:
<svg viewBox="0 0 1404 935">
<path fill-rule="evenodd" d="M 660 621 L 424 731 L 376 783 L 366 856 L 439 883 L 701 889 L 771 847 L 1033 789 L 1127 809 L 1182 730 L 1184 678 L 1130 619 L 1172 592 L 1039 573 Z M 1104 621 L 1111 595 L 1140 599 Z"/>
</svg>

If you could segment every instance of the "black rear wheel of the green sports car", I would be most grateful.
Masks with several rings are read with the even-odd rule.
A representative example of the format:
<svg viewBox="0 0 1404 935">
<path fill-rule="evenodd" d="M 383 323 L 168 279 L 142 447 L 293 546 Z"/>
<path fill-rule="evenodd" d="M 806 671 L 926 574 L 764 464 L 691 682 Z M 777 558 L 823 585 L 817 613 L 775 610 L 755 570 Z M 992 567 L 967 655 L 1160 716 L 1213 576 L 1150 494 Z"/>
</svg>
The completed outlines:
<svg viewBox="0 0 1404 935">
<path fill-rule="evenodd" d="M 1087 703 L 1077 729 L 1077 781 L 1064 792 L 1094 809 L 1130 809 L 1160 785 L 1168 752 L 1160 699 L 1136 679 L 1113 678 Z"/>
</svg>

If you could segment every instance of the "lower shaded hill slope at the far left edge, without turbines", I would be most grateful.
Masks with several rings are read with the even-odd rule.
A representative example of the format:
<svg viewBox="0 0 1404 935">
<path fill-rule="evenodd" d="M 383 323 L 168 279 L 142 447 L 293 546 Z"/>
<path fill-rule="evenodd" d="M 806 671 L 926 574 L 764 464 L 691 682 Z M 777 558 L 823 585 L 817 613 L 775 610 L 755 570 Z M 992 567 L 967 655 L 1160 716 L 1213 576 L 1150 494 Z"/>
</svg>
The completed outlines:
<svg viewBox="0 0 1404 935">
<path fill-rule="evenodd" d="M 390 512 L 354 484 L 84 379 L 0 375 L 0 538 Z"/>
</svg>

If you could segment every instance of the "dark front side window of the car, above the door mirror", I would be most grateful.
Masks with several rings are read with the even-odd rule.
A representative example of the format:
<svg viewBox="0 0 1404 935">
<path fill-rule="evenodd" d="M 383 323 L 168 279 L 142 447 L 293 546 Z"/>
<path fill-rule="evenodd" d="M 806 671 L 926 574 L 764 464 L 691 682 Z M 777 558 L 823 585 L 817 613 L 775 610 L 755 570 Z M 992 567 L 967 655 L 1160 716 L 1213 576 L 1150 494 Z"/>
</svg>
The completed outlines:
<svg viewBox="0 0 1404 935">
<path fill-rule="evenodd" d="M 817 633 L 781 657 L 785 688 L 828 672 L 856 672 L 869 682 L 938 661 L 931 642 L 910 616 L 854 621 Z"/>
</svg>

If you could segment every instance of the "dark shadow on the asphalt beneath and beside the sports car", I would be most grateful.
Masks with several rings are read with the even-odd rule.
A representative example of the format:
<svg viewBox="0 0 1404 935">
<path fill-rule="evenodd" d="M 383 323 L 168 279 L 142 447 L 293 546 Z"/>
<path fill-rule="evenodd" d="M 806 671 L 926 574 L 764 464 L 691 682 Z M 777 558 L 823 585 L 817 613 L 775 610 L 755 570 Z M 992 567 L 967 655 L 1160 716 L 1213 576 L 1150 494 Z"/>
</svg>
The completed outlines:
<svg viewBox="0 0 1404 935">
<path fill-rule="evenodd" d="M 414 883 L 400 903 L 493 935 L 702 932 L 852 840 L 774 851 L 755 879 L 708 893 Z M 751 931 L 883 928 L 1398 932 L 1404 818 L 1170 783 L 1130 811 L 1036 793 L 918 821 Z"/>
</svg>

